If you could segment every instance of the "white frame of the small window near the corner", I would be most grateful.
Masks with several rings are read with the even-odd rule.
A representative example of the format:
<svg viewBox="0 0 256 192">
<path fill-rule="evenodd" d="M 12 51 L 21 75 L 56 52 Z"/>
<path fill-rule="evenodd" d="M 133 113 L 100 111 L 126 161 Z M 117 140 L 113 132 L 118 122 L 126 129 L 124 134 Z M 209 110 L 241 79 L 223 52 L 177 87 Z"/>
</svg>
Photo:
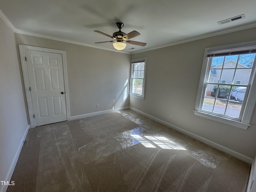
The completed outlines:
<svg viewBox="0 0 256 192">
<path fill-rule="evenodd" d="M 133 77 L 134 64 L 136 62 L 143 61 L 143 60 L 144 60 L 144 78 L 134 78 Z M 131 68 L 130 68 L 130 93 L 129 93 L 129 95 L 132 96 L 132 97 L 135 97 L 135 98 L 142 99 L 142 100 L 144 100 L 144 98 L 145 98 L 144 93 L 145 93 L 145 78 L 146 78 L 146 61 L 147 61 L 147 58 L 132 59 L 131 60 Z M 132 92 L 132 90 L 133 90 L 133 80 L 134 79 L 143 79 L 143 86 L 142 86 L 142 94 L 141 95 Z"/>
</svg>

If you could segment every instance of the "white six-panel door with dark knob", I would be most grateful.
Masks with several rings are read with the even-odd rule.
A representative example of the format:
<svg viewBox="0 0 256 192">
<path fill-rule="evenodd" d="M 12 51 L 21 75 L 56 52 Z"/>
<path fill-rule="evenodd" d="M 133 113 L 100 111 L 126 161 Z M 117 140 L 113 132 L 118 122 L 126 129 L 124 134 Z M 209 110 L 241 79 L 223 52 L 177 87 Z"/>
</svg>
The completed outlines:
<svg viewBox="0 0 256 192">
<path fill-rule="evenodd" d="M 25 50 L 35 125 L 67 120 L 62 54 Z"/>
</svg>

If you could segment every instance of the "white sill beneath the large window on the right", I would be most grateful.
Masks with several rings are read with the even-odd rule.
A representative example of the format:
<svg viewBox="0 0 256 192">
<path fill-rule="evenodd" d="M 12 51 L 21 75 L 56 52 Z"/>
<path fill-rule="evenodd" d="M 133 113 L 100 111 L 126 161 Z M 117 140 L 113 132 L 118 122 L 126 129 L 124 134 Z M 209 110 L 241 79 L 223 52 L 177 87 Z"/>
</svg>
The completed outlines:
<svg viewBox="0 0 256 192">
<path fill-rule="evenodd" d="M 246 123 L 243 123 L 243 122 L 239 122 L 239 121 L 235 121 L 235 120 L 215 116 L 215 115 L 212 115 L 212 114 L 207 114 L 207 113 L 196 111 L 196 110 L 194 110 L 194 115 L 199 116 L 199 117 L 203 117 L 203 118 L 206 118 L 206 119 L 210 119 L 210 120 L 213 120 L 213 121 L 217 121 L 217 122 L 220 122 L 220 123 L 224 123 L 224 124 L 227 124 L 227 125 L 231 125 L 231 126 L 234 126 L 234 127 L 238 127 L 238 128 L 244 129 L 244 130 L 247 130 L 247 128 L 250 126 L 250 124 L 246 124 Z"/>
</svg>

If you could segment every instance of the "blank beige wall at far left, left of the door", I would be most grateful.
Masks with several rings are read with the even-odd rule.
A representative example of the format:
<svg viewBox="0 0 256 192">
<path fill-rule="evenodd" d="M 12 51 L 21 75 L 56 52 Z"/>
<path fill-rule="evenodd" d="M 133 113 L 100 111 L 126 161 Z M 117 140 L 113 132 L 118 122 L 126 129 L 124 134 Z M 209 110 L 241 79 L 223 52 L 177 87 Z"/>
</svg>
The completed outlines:
<svg viewBox="0 0 256 192">
<path fill-rule="evenodd" d="M 10 180 L 27 128 L 14 33 L 0 18 L 0 181 Z"/>
</svg>

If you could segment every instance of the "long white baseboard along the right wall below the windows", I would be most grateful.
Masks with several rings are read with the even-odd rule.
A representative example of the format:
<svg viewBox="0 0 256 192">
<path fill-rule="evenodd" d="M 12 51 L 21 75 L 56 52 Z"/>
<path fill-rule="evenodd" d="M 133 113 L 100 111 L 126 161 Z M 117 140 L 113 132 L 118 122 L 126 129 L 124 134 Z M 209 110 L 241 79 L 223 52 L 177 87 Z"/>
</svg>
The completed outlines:
<svg viewBox="0 0 256 192">
<path fill-rule="evenodd" d="M 203 138 L 203 137 L 201 137 L 201 136 L 199 136 L 199 135 L 196 135 L 196 134 L 194 134 L 194 133 L 192 133 L 192 132 L 189 132 L 189 131 L 184 130 L 184 129 L 180 128 L 180 127 L 177 127 L 177 126 L 175 126 L 175 125 L 173 125 L 173 124 L 170 124 L 170 123 L 168 123 L 168 122 L 165 122 L 165 121 L 163 121 L 163 120 L 160 120 L 160 119 L 158 119 L 158 118 L 156 118 L 156 117 L 154 117 L 154 116 L 151 116 L 151 115 L 149 115 L 149 114 L 146 114 L 146 113 L 144 113 L 144 112 L 142 112 L 142 111 L 140 111 L 140 110 L 137 110 L 137 109 L 135 109 L 135 108 L 129 107 L 129 109 L 130 109 L 130 110 L 133 110 L 133 111 L 135 111 L 135 112 L 137 112 L 138 114 L 141 114 L 141 115 L 143 115 L 143 116 L 146 116 L 146 117 L 148 117 L 148 118 L 150 118 L 150 119 L 152 119 L 152 120 L 155 120 L 156 122 L 159 122 L 159 123 L 161 123 L 161 124 L 163 124 L 163 125 L 166 125 L 166 126 L 168 126 L 168 127 L 170 127 L 170 128 L 173 128 L 174 130 L 176 130 L 176 131 L 178 131 L 178 132 L 180 132 L 180 133 L 183 133 L 183 134 L 185 134 L 185 135 L 187 135 L 187 136 L 190 136 L 190 137 L 192 137 L 192 138 L 194 138 L 194 139 L 196 139 L 196 140 L 198 140 L 198 141 L 200 141 L 200 142 L 202 142 L 202 143 L 204 143 L 204 144 L 207 144 L 207 145 L 212 146 L 212 147 L 214 147 L 214 148 L 216 148 L 216 149 L 218 149 L 218 150 L 220 150 L 220 151 L 223 151 L 223 152 L 225 152 L 225 153 L 227 153 L 227 154 L 230 154 L 230 155 L 232 155 L 232 156 L 234 156 L 234 157 L 236 157 L 236 158 L 238 158 L 238 159 L 240 159 L 240 160 L 242 160 L 242 161 L 244 161 L 244 162 L 247 162 L 247 163 L 249 163 L 249 164 L 252 164 L 252 162 L 253 162 L 253 159 L 252 159 L 252 158 L 249 158 L 249 157 L 247 157 L 247 156 L 245 156 L 245 155 L 243 155 L 243 154 L 240 154 L 240 153 L 238 153 L 238 152 L 236 152 L 236 151 L 234 151 L 234 150 L 231 150 L 231 149 L 229 149 L 229 148 L 226 148 L 226 147 L 224 147 L 224 146 L 222 146 L 222 145 L 220 145 L 220 144 L 218 144 L 218 143 L 215 143 L 215 142 L 210 141 L 210 140 L 208 140 L 208 139 L 206 139 L 206 138 Z"/>
</svg>

